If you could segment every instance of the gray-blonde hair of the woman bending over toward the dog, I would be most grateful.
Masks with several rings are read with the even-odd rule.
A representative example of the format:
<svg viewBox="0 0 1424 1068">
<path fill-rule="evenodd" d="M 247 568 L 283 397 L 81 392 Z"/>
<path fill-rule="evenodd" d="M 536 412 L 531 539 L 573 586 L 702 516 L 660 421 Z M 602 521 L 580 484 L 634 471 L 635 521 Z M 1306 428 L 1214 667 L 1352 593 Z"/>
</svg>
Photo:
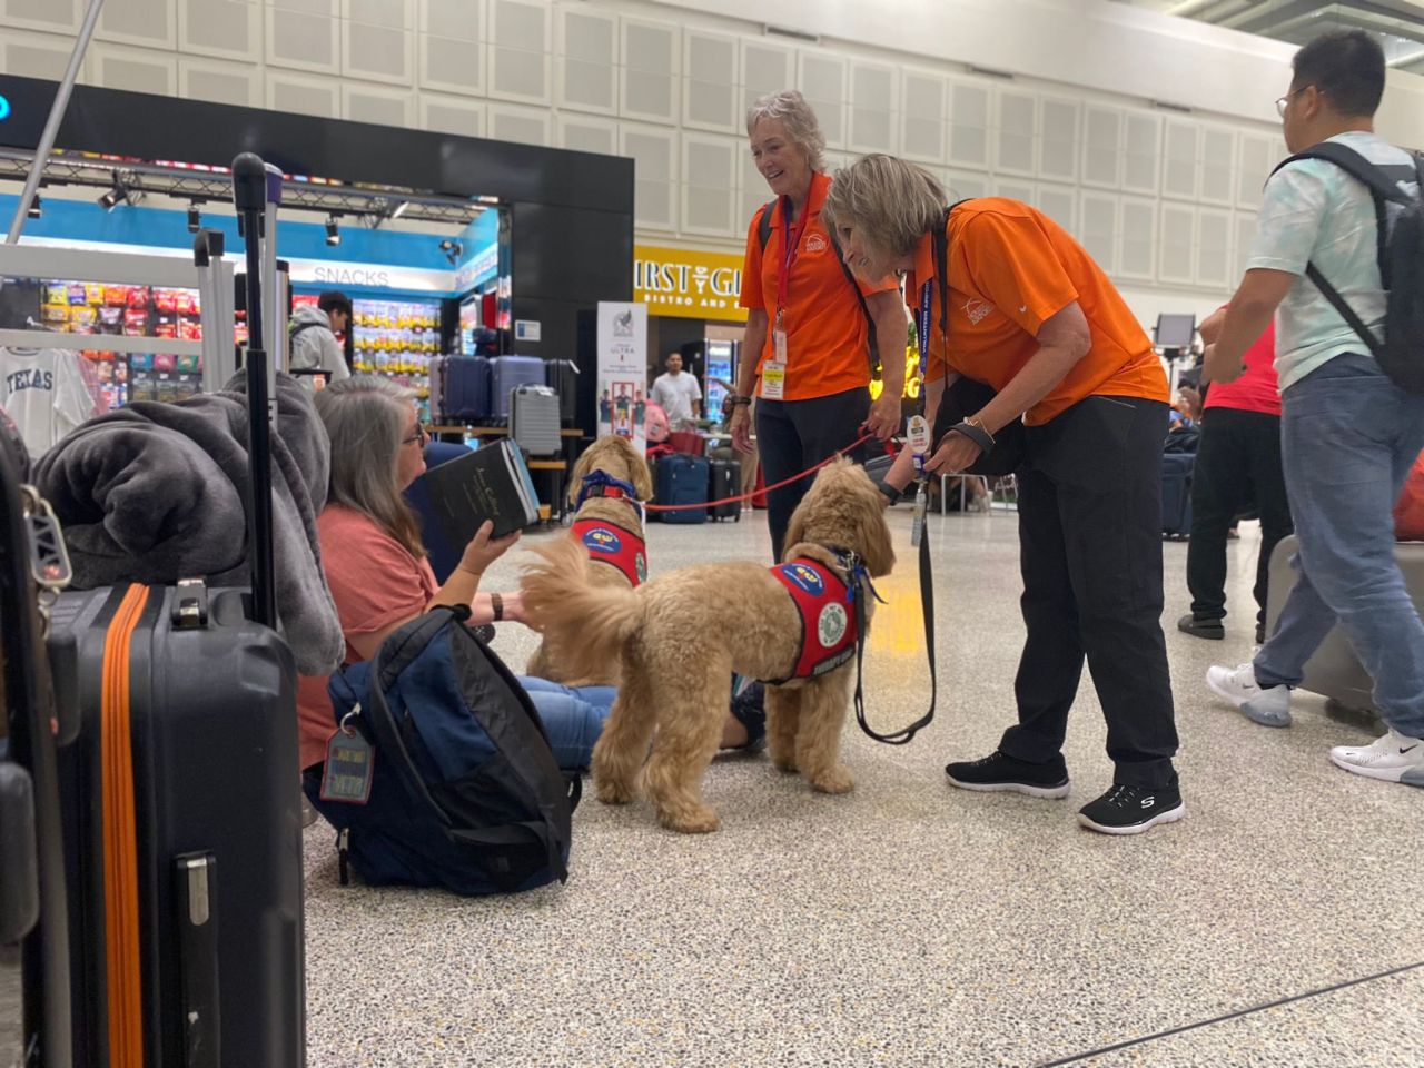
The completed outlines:
<svg viewBox="0 0 1424 1068">
<path fill-rule="evenodd" d="M 883 278 L 943 225 L 947 202 L 944 187 L 924 168 L 893 155 L 866 155 L 836 171 L 822 216 L 832 232 L 854 231 L 871 261 L 864 273 Z"/>
</svg>

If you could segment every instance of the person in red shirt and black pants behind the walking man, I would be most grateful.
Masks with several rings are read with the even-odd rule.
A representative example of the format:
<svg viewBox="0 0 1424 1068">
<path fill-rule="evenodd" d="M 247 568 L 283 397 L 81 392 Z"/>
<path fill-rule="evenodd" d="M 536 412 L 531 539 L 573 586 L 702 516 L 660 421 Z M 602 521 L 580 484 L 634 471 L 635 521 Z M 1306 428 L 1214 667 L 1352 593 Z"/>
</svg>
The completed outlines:
<svg viewBox="0 0 1424 1068">
<path fill-rule="evenodd" d="M 1216 342 L 1226 320 L 1220 308 L 1202 323 L 1202 340 Z M 1226 538 L 1236 517 L 1255 504 L 1260 515 L 1256 558 L 1256 644 L 1266 641 L 1266 584 L 1270 554 L 1294 527 L 1280 467 L 1280 392 L 1276 387 L 1276 328 L 1267 326 L 1243 357 L 1245 373 L 1206 390 L 1202 437 L 1192 470 L 1192 538 L 1186 585 L 1192 611 L 1176 629 L 1196 638 L 1226 637 Z"/>
</svg>

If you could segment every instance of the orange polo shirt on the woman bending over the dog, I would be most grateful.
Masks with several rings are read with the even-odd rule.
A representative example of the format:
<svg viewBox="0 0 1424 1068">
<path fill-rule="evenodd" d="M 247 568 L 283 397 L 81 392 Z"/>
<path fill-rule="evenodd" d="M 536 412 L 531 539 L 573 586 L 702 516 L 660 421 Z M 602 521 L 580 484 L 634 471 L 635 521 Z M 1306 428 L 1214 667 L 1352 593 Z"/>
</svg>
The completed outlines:
<svg viewBox="0 0 1424 1068">
<path fill-rule="evenodd" d="M 1166 373 L 1126 302 L 1067 231 L 1027 204 L 1000 197 L 968 201 L 950 214 L 950 345 L 940 333 L 940 292 L 934 285 L 933 339 L 926 373 L 943 379 L 946 366 L 1004 389 L 1038 352 L 1044 320 L 1074 300 L 1092 335 L 1088 355 L 1024 413 L 1038 426 L 1092 396 L 1168 402 Z M 934 278 L 934 244 L 920 239 L 906 302 L 918 315 L 920 286 Z"/>
</svg>

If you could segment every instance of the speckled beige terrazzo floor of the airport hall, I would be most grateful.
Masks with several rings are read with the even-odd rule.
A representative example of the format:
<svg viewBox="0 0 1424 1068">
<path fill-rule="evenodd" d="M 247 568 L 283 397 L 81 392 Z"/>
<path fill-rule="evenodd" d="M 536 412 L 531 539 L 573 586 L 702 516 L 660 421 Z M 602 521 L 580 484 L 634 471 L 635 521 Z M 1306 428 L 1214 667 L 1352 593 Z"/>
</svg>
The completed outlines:
<svg viewBox="0 0 1424 1068">
<path fill-rule="evenodd" d="M 909 508 L 891 524 L 901 564 L 866 662 L 881 729 L 927 703 Z M 684 837 L 645 802 L 585 795 L 568 883 L 480 900 L 340 887 L 312 827 L 309 1065 L 1424 1064 L 1424 790 L 1330 766 L 1329 746 L 1368 735 L 1320 698 L 1269 731 L 1202 685 L 1250 656 L 1255 524 L 1229 548 L 1225 642 L 1175 629 L 1186 545 L 1163 547 L 1188 817 L 1131 839 L 1075 822 L 1111 780 L 1087 674 L 1068 800 L 946 783 L 1012 716 L 1017 520 L 930 533 L 938 713 L 903 748 L 852 723 L 847 796 L 722 756 L 722 830 Z M 649 531 L 654 572 L 768 555 L 760 513 Z M 486 588 L 513 587 L 514 558 Z M 494 648 L 518 668 L 533 645 L 506 624 Z"/>
</svg>

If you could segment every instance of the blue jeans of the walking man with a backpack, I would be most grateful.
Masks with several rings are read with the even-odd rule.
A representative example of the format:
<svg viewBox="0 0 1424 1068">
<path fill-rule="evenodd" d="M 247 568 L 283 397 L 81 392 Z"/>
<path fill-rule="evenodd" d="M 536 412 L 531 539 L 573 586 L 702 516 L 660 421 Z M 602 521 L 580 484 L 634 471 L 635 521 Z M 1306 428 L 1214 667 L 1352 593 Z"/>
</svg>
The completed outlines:
<svg viewBox="0 0 1424 1068">
<path fill-rule="evenodd" d="M 1282 394 L 1296 588 L 1256 655 L 1262 686 L 1300 685 L 1339 622 L 1390 726 L 1424 735 L 1424 624 L 1394 560 L 1394 501 L 1424 449 L 1424 397 L 1368 356 L 1337 356 Z"/>
</svg>

